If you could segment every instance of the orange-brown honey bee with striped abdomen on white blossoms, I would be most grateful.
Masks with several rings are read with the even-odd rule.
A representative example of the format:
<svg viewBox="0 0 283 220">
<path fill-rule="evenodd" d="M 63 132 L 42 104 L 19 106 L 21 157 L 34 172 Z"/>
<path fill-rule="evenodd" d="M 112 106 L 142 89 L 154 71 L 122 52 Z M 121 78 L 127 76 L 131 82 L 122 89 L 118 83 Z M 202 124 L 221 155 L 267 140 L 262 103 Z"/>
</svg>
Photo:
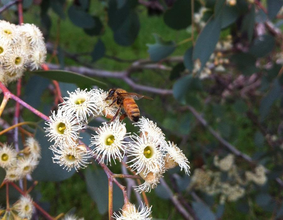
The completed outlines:
<svg viewBox="0 0 283 220">
<path fill-rule="evenodd" d="M 120 116 L 120 121 L 128 116 L 131 121 L 137 122 L 140 118 L 140 110 L 134 99 L 139 100 L 141 98 L 152 100 L 151 97 L 139 95 L 134 92 L 127 92 L 121 88 L 110 89 L 104 101 L 112 100 L 112 103 L 109 106 L 115 104 L 119 107 L 110 122 L 115 120 L 122 107 L 125 109 L 125 113 Z"/>
</svg>

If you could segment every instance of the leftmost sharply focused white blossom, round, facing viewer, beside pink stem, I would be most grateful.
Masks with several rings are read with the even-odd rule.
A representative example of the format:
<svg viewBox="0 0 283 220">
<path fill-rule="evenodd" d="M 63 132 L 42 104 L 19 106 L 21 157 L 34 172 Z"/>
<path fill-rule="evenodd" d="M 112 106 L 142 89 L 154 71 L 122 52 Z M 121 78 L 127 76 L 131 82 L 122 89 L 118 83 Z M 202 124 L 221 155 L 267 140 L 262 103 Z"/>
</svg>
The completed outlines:
<svg viewBox="0 0 283 220">
<path fill-rule="evenodd" d="M 45 132 L 48 132 L 46 136 L 49 137 L 49 141 L 73 144 L 79 138 L 79 130 L 83 125 L 79 124 L 79 120 L 74 115 L 58 109 L 57 113 L 54 111 L 49 118 L 45 123 L 48 126 Z"/>
</svg>

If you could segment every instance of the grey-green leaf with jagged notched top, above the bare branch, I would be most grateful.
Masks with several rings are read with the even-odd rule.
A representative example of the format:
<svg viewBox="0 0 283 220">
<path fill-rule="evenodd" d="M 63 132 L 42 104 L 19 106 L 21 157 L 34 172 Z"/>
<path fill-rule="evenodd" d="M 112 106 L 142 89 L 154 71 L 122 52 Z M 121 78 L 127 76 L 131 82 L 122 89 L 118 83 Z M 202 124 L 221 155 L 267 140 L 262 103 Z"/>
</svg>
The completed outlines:
<svg viewBox="0 0 283 220">
<path fill-rule="evenodd" d="M 155 44 L 147 44 L 150 59 L 154 62 L 166 58 L 174 52 L 176 44 L 174 41 L 164 41 L 159 35 L 153 34 Z"/>
</svg>

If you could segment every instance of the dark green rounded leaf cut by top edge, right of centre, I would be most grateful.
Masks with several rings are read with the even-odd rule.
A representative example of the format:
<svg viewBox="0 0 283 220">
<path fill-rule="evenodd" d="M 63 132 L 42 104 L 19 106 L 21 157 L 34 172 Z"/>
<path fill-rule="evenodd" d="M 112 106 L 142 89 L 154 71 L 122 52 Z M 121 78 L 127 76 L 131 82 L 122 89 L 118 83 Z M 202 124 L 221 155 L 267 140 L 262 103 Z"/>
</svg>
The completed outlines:
<svg viewBox="0 0 283 220">
<path fill-rule="evenodd" d="M 175 30 L 184 29 L 191 25 L 191 2 L 177 0 L 173 6 L 164 13 L 164 22 Z"/>
</svg>

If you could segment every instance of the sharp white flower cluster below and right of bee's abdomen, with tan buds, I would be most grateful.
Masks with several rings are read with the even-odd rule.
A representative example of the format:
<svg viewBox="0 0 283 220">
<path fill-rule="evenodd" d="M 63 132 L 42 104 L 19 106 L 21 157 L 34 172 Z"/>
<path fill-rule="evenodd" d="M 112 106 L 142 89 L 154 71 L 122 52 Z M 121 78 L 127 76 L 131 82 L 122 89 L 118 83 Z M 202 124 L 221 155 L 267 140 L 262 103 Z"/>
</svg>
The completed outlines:
<svg viewBox="0 0 283 220">
<path fill-rule="evenodd" d="M 135 189 L 138 192 L 150 192 L 159 183 L 166 170 L 179 166 L 189 175 L 189 161 L 174 143 L 165 141 L 162 130 L 148 118 L 140 118 L 135 126 L 140 135 L 131 135 L 127 146 L 127 155 L 132 163 L 129 167 L 145 181 Z"/>
</svg>

